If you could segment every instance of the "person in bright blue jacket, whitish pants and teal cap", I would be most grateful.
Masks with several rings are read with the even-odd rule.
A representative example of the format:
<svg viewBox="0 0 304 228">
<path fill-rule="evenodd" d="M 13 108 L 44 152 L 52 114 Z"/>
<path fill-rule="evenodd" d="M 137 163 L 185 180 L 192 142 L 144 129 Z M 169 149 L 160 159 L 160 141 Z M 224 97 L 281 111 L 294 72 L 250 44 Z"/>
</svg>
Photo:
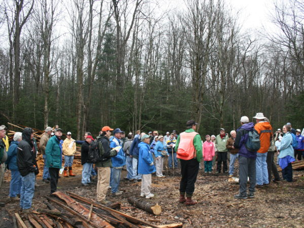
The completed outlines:
<svg viewBox="0 0 304 228">
<path fill-rule="evenodd" d="M 146 199 L 154 197 L 151 194 L 152 175 L 155 172 L 155 166 L 153 163 L 153 156 L 150 151 L 149 145 L 150 139 L 148 135 L 141 136 L 141 142 L 138 144 L 139 147 L 139 158 L 138 158 L 138 173 L 142 174 L 141 177 L 141 192 L 140 196 Z"/>
</svg>

